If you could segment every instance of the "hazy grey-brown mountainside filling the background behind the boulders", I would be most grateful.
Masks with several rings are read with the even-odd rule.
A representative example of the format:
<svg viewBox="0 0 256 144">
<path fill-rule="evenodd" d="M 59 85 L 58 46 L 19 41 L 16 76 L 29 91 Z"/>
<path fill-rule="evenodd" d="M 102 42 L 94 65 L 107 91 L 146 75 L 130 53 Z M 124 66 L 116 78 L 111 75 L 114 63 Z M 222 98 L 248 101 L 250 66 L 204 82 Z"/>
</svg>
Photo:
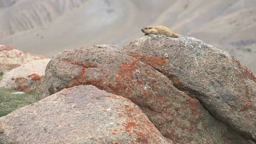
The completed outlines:
<svg viewBox="0 0 256 144">
<path fill-rule="evenodd" d="M 256 73 L 256 0 L 0 0 L 0 44 L 49 57 L 102 43 L 121 49 L 147 25 L 228 50 Z"/>
</svg>

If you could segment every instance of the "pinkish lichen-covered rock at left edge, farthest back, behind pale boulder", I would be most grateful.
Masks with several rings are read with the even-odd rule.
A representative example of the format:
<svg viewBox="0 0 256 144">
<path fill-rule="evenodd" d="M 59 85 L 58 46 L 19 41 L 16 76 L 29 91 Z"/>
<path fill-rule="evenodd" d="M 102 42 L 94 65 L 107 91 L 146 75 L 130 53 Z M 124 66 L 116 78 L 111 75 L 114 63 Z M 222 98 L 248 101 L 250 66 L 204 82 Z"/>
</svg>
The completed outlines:
<svg viewBox="0 0 256 144">
<path fill-rule="evenodd" d="M 0 76 L 22 64 L 39 59 L 46 59 L 46 57 L 0 45 Z"/>
</svg>

